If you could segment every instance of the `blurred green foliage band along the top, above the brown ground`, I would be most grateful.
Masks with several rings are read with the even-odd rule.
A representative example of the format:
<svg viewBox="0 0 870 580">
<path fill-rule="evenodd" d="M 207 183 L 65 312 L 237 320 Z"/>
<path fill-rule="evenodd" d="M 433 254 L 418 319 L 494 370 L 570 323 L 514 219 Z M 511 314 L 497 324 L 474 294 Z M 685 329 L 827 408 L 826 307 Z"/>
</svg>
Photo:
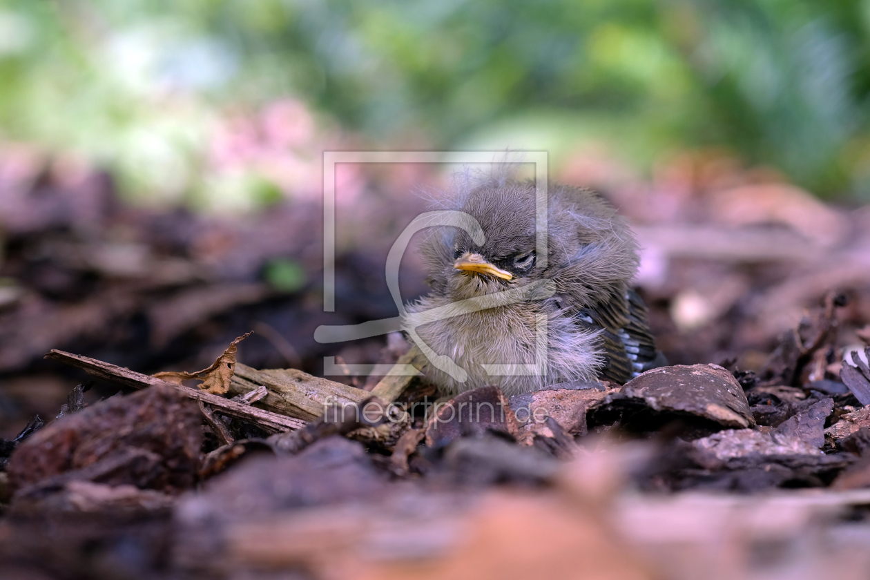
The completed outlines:
<svg viewBox="0 0 870 580">
<path fill-rule="evenodd" d="M 5 137 L 131 190 L 180 195 L 221 110 L 297 95 L 382 143 L 537 111 L 641 165 L 722 146 L 870 196 L 870 0 L 0 0 L 0 86 Z"/>
</svg>

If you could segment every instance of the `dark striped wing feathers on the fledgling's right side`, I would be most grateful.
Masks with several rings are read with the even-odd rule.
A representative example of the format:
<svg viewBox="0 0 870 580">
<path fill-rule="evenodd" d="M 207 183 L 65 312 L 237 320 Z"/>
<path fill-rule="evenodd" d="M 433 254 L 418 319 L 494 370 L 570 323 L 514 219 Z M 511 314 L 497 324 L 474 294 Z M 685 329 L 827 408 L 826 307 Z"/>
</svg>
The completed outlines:
<svg viewBox="0 0 870 580">
<path fill-rule="evenodd" d="M 605 364 L 601 376 L 626 383 L 644 370 L 666 364 L 649 330 L 646 304 L 633 290 L 577 311 L 577 321 L 601 330 Z"/>
</svg>

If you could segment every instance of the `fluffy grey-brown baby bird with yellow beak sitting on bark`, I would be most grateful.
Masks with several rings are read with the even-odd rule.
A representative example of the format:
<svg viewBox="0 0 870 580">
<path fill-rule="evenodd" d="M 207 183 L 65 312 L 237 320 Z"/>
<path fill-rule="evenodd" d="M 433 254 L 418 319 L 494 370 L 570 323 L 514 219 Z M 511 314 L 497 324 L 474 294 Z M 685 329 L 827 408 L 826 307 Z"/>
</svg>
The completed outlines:
<svg viewBox="0 0 870 580">
<path fill-rule="evenodd" d="M 423 320 L 439 307 L 450 315 L 416 326 L 430 349 L 465 370 L 457 377 L 432 362 L 426 366 L 425 376 L 444 394 L 492 384 L 511 396 L 596 378 L 626 383 L 666 364 L 646 305 L 629 286 L 639 257 L 625 220 L 591 190 L 551 185 L 547 197 L 545 260 L 536 254 L 530 182 L 493 179 L 453 200 L 448 209 L 474 217 L 482 243 L 457 227 L 443 227 L 425 242 L 432 291 L 409 304 L 406 317 Z M 533 283 L 548 283 L 549 290 L 483 310 L 449 310 Z"/>
</svg>

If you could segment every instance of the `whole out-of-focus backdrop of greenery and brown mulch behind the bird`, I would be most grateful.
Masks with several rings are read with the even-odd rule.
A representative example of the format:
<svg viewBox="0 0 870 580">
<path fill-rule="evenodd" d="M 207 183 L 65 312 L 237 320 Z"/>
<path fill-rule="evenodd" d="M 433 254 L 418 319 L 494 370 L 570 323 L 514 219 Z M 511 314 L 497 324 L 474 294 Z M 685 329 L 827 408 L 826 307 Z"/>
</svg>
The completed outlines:
<svg viewBox="0 0 870 580">
<path fill-rule="evenodd" d="M 327 315 L 325 150 L 548 151 L 637 228 L 672 362 L 760 368 L 827 290 L 853 343 L 868 97 L 866 0 L 0 0 L 0 437 L 75 383 L 51 348 L 196 370 L 255 330 L 252 366 L 386 356 L 312 332 L 395 316 L 386 252 L 447 170 L 340 168 Z M 406 257 L 405 297 L 423 278 Z"/>
</svg>

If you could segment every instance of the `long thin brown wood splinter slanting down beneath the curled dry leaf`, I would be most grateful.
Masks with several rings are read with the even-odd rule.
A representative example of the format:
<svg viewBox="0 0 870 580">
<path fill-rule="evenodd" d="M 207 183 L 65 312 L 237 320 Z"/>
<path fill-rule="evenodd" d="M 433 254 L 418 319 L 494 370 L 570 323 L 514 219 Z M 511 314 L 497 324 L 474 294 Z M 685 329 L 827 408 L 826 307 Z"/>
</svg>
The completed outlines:
<svg viewBox="0 0 870 580">
<path fill-rule="evenodd" d="M 206 393 L 202 390 L 167 383 L 166 381 L 161 381 L 159 378 L 143 375 L 134 370 L 119 367 L 116 364 L 98 361 L 96 358 L 82 357 L 81 355 L 74 355 L 70 352 L 64 352 L 63 350 L 51 350 L 47 355 L 45 355 L 45 357 L 82 369 L 94 377 L 99 377 L 106 381 L 132 387 L 134 389 L 145 389 L 155 384 L 169 385 L 173 389 L 181 391 L 184 396 L 189 397 L 194 401 L 208 403 L 213 408 L 220 410 L 224 415 L 250 421 L 270 433 L 278 433 L 279 431 L 288 429 L 299 429 L 300 427 L 305 426 L 305 421 L 300 421 L 295 417 L 286 417 L 244 403 L 236 403 L 230 399 L 218 397 L 218 395 L 212 395 L 211 393 Z"/>
</svg>

